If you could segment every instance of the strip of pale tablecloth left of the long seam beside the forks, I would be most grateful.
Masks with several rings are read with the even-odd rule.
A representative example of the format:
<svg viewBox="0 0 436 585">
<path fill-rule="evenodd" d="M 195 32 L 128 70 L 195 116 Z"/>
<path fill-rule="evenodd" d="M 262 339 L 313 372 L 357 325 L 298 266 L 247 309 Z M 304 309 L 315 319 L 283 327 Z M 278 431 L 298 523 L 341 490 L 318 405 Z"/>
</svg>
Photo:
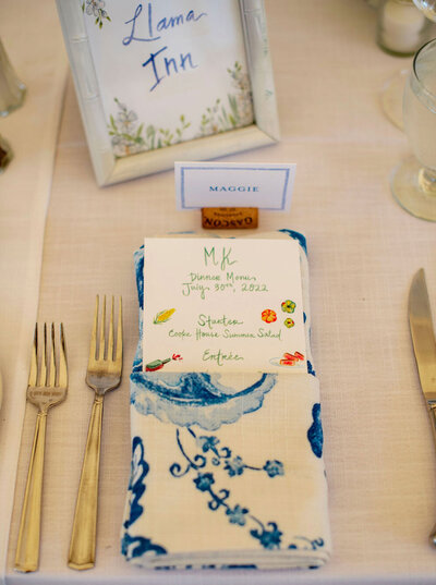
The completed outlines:
<svg viewBox="0 0 436 585">
<path fill-rule="evenodd" d="M 44 228 L 68 74 L 57 14 L 0 3 L 0 38 L 27 87 L 23 108 L 0 118 L 14 158 L 0 175 L 0 583 L 8 549 L 25 410 L 29 349 L 38 309 Z"/>
</svg>

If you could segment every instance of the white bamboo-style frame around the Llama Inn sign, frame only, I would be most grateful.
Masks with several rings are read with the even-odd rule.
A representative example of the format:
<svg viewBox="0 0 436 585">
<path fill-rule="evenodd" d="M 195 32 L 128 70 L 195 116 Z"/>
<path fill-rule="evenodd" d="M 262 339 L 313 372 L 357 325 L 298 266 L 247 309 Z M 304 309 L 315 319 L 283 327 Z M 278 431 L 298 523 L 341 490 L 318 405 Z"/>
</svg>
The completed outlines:
<svg viewBox="0 0 436 585">
<path fill-rule="evenodd" d="M 175 160 L 208 160 L 257 148 L 279 139 L 274 75 L 263 0 L 239 4 L 250 76 L 254 123 L 171 146 L 118 158 L 108 134 L 83 0 L 57 0 L 90 159 L 99 186 L 171 169 Z"/>
</svg>

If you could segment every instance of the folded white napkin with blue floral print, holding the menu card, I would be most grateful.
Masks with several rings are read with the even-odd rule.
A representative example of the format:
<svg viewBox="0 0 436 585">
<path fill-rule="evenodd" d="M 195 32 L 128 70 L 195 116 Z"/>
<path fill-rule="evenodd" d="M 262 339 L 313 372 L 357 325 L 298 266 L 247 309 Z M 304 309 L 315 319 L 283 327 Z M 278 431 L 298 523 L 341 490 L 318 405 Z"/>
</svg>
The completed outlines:
<svg viewBox="0 0 436 585">
<path fill-rule="evenodd" d="M 132 563 L 316 569 L 330 556 L 305 239 L 290 230 L 259 236 L 300 243 L 307 374 L 144 373 L 144 249 L 135 253 L 140 343 L 121 544 Z"/>
</svg>

